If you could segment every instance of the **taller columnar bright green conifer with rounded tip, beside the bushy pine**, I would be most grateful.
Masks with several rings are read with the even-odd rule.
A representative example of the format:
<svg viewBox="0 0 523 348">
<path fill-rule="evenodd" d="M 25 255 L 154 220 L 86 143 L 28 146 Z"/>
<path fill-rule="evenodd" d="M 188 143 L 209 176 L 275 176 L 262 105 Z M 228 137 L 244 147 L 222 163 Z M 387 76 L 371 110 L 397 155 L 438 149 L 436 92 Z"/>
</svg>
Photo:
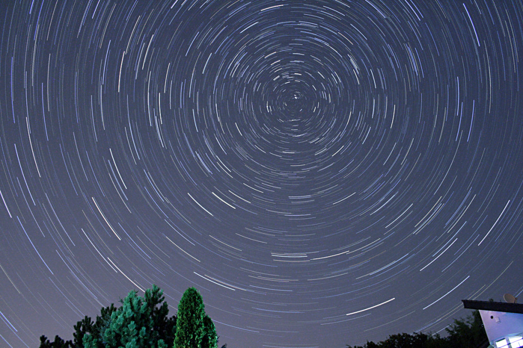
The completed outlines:
<svg viewBox="0 0 523 348">
<path fill-rule="evenodd" d="M 194 287 L 188 288 L 178 304 L 175 348 L 202 348 L 204 317 L 205 310 L 200 293 Z"/>
</svg>

